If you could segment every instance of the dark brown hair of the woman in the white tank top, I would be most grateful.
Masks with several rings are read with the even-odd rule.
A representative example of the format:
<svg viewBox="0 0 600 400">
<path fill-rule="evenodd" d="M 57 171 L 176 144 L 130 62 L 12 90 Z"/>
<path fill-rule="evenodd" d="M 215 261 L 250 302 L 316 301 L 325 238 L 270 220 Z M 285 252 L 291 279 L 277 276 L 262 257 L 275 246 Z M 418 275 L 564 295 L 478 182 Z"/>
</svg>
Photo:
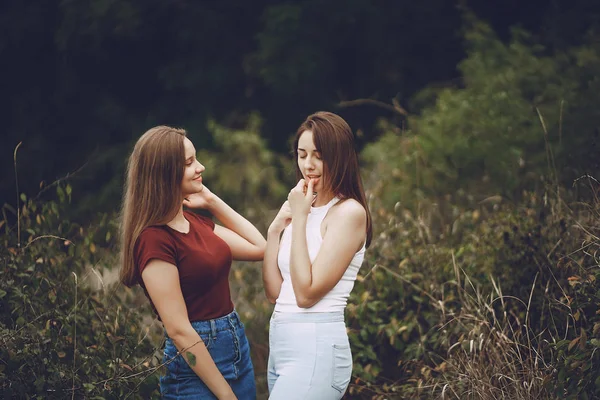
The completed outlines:
<svg viewBox="0 0 600 400">
<path fill-rule="evenodd" d="M 371 212 L 363 189 L 358 168 L 358 155 L 352 129 L 342 117 L 334 113 L 320 111 L 309 115 L 300 125 L 294 139 L 294 156 L 298 159 L 298 141 L 304 131 L 311 131 L 317 151 L 323 160 L 323 186 L 341 199 L 358 201 L 367 212 L 367 247 L 371 244 L 373 228 Z M 296 177 L 302 178 L 302 171 L 296 163 Z"/>
</svg>

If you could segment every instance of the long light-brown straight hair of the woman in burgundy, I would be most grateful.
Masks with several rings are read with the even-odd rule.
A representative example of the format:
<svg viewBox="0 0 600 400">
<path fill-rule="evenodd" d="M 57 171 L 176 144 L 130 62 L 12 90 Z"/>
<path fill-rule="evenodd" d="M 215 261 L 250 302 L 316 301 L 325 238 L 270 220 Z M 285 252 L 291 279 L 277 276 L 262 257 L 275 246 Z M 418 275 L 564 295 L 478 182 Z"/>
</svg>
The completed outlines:
<svg viewBox="0 0 600 400">
<path fill-rule="evenodd" d="M 148 226 L 175 218 L 181 204 L 185 168 L 183 129 L 157 126 L 135 144 L 127 164 L 121 207 L 121 270 L 119 278 L 131 287 L 138 283 L 135 242 Z"/>
</svg>

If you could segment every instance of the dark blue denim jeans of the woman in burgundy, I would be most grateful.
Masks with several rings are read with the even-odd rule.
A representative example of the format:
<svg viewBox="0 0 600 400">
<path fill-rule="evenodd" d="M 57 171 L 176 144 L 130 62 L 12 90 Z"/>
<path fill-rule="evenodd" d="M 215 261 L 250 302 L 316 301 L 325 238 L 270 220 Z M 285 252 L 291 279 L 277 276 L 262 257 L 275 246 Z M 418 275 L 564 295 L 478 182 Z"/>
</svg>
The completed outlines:
<svg viewBox="0 0 600 400">
<path fill-rule="evenodd" d="M 254 369 L 244 324 L 237 312 L 208 320 L 192 322 L 208 352 L 238 399 L 256 399 Z M 169 362 L 170 361 L 170 362 Z M 215 395 L 190 368 L 173 340 L 167 336 L 163 362 L 166 374 L 160 378 L 164 399 L 216 399 Z"/>
</svg>

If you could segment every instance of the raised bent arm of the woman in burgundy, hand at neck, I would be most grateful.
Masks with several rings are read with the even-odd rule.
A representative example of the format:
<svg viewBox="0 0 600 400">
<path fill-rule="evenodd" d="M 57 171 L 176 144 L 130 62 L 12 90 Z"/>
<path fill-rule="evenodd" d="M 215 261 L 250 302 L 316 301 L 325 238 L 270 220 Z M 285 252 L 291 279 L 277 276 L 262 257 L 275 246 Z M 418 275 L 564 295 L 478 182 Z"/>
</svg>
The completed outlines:
<svg viewBox="0 0 600 400">
<path fill-rule="evenodd" d="M 267 243 L 263 235 L 206 186 L 201 192 L 189 196 L 184 204 L 192 208 L 208 209 L 223 224 L 215 225 L 215 234 L 229 245 L 234 260 L 263 259 Z"/>
</svg>

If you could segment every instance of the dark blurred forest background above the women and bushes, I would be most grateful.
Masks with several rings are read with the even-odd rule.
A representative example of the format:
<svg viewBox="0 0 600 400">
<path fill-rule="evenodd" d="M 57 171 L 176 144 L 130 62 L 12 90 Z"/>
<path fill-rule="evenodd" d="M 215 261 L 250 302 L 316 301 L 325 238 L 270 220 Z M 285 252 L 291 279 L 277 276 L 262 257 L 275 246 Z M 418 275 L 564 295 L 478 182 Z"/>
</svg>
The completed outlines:
<svg viewBox="0 0 600 400">
<path fill-rule="evenodd" d="M 521 26 L 549 48 L 600 26 L 595 0 L 2 2 L 0 200 L 15 197 L 19 142 L 20 192 L 84 166 L 77 190 L 113 209 L 132 140 L 156 124 L 185 127 L 210 149 L 209 119 L 236 127 L 258 112 L 261 134 L 285 152 L 305 115 L 330 109 L 364 144 L 378 116 L 402 116 L 340 102 L 395 99 L 418 113 L 419 90 L 460 86 L 471 13 L 502 38 Z"/>
</svg>

